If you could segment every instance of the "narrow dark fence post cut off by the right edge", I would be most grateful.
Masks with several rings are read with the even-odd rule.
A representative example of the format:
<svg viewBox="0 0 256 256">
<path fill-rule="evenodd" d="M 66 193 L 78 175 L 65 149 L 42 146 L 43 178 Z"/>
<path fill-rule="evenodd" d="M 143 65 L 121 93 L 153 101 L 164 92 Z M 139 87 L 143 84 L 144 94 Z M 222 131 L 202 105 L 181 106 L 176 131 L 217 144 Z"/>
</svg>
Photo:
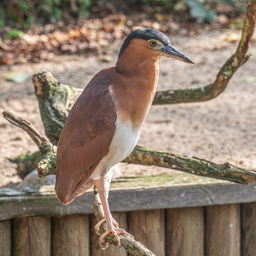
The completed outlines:
<svg viewBox="0 0 256 256">
<path fill-rule="evenodd" d="M 241 256 L 256 254 L 256 203 L 242 204 Z"/>
</svg>

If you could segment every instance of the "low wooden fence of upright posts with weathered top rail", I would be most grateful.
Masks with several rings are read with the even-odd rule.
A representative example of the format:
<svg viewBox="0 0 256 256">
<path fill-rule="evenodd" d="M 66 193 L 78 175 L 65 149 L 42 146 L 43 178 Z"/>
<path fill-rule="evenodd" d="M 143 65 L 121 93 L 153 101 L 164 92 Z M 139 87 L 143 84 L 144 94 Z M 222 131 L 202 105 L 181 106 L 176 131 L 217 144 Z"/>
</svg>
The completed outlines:
<svg viewBox="0 0 256 256">
<path fill-rule="evenodd" d="M 52 186 L 0 189 L 0 256 L 100 256 L 93 192 L 62 206 Z M 189 174 L 113 181 L 119 226 L 157 256 L 255 256 L 256 189 Z"/>
</svg>

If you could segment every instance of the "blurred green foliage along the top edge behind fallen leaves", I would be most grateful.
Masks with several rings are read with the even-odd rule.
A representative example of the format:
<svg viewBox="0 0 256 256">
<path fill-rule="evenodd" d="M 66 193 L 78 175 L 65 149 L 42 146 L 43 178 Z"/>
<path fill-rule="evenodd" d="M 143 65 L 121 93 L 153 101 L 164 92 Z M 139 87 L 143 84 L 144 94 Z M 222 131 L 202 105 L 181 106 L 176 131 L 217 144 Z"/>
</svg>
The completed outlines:
<svg viewBox="0 0 256 256">
<path fill-rule="evenodd" d="M 35 22 L 55 23 L 67 16 L 88 18 L 93 6 L 102 7 L 108 4 L 123 12 L 124 6 L 129 7 L 126 12 L 132 9 L 145 11 L 145 8 L 138 8 L 141 6 L 158 7 L 156 11 L 165 13 L 186 11 L 191 20 L 197 23 L 213 22 L 217 15 L 216 5 L 219 3 L 227 4 L 237 11 L 245 11 L 246 8 L 244 0 L 2 0 L 0 27 L 9 25 L 18 29 L 29 29 Z"/>
</svg>

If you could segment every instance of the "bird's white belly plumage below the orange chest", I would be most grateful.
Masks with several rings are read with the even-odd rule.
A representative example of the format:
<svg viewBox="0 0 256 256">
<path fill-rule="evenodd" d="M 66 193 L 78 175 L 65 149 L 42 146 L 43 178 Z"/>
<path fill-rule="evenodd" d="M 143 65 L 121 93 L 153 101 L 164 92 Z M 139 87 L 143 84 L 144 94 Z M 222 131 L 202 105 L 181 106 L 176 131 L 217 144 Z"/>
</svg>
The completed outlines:
<svg viewBox="0 0 256 256">
<path fill-rule="evenodd" d="M 109 153 L 103 157 L 94 170 L 91 179 L 99 178 L 102 172 L 107 172 L 108 169 L 130 155 L 136 146 L 141 134 L 140 129 L 134 129 L 132 122 L 120 123 L 117 115 L 116 129 L 109 146 Z"/>
</svg>

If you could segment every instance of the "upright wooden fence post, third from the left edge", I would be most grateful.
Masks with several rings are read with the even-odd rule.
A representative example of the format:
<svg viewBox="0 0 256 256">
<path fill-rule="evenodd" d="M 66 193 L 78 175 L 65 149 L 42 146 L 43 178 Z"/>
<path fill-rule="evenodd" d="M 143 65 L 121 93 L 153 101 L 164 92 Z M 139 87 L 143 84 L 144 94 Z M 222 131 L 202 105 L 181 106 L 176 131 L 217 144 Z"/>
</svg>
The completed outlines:
<svg viewBox="0 0 256 256">
<path fill-rule="evenodd" d="M 52 218 L 51 256 L 90 256 L 88 215 Z"/>
</svg>

